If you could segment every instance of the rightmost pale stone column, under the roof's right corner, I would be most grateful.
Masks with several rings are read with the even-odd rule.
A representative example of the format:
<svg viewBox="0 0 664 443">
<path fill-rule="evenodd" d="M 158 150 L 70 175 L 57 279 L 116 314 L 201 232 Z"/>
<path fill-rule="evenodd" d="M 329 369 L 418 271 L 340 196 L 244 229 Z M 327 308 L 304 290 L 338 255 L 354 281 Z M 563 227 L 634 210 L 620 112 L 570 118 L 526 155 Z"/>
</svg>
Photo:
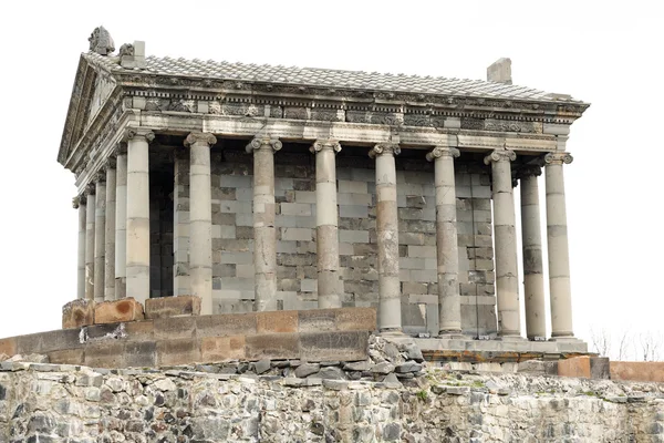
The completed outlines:
<svg viewBox="0 0 664 443">
<path fill-rule="evenodd" d="M 572 293 L 570 288 L 570 253 L 567 234 L 564 177 L 562 174 L 562 164 L 570 164 L 572 159 L 572 156 L 564 152 L 549 153 L 544 156 L 552 339 L 571 339 L 574 337 L 572 328 Z"/>
</svg>

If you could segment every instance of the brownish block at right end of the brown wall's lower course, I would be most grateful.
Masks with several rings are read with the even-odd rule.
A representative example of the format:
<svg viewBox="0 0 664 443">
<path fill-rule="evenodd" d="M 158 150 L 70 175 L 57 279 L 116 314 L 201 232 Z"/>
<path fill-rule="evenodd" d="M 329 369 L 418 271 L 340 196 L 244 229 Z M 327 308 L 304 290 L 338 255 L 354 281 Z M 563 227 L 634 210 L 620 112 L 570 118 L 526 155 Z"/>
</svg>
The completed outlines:
<svg viewBox="0 0 664 443">
<path fill-rule="evenodd" d="M 364 360 L 369 357 L 369 331 L 304 332 L 301 359 L 307 361 Z"/>
</svg>

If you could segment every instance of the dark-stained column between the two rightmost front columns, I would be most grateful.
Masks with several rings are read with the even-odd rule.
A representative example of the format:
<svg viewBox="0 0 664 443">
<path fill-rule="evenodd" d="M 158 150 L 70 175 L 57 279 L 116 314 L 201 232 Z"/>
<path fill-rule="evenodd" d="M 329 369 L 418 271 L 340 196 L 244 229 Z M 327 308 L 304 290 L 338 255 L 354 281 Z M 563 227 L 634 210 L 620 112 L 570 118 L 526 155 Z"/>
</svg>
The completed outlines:
<svg viewBox="0 0 664 443">
<path fill-rule="evenodd" d="M 542 235 L 540 228 L 539 186 L 542 169 L 522 166 L 518 172 L 521 185 L 521 244 L 523 251 L 523 298 L 526 299 L 526 337 L 547 337 L 544 309 L 544 276 L 542 269 Z"/>
</svg>

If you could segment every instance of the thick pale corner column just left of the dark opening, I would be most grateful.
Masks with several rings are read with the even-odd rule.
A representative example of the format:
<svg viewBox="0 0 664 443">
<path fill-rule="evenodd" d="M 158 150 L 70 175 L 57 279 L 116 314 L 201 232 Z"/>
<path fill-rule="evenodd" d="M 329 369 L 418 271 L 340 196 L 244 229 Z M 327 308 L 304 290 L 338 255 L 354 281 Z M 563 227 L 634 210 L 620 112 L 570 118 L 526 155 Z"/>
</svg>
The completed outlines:
<svg viewBox="0 0 664 443">
<path fill-rule="evenodd" d="M 149 298 L 149 151 L 152 131 L 127 133 L 127 297 Z"/>
</svg>

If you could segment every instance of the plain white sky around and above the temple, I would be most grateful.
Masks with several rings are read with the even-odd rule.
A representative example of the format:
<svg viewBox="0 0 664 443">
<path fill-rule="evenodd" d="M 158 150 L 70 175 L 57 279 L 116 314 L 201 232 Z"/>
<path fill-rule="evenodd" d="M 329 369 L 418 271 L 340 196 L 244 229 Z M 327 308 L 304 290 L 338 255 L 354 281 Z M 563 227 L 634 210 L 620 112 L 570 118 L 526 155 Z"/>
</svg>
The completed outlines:
<svg viewBox="0 0 664 443">
<path fill-rule="evenodd" d="M 0 337 L 58 329 L 76 296 L 74 176 L 55 158 L 100 24 L 160 56 L 467 79 L 511 58 L 515 84 L 592 103 L 566 166 L 577 334 L 664 332 L 657 1 L 21 1 L 0 16 Z"/>
</svg>

